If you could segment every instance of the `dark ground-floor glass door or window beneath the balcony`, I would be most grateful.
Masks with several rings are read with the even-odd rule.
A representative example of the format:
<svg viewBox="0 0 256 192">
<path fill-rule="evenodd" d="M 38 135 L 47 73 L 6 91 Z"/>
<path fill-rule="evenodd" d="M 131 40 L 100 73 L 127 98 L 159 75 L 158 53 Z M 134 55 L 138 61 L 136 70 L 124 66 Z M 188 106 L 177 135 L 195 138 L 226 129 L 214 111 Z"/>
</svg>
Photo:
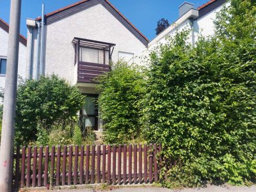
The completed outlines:
<svg viewBox="0 0 256 192">
<path fill-rule="evenodd" d="M 98 131 L 98 95 L 86 95 L 85 104 L 80 111 L 81 126 L 84 131 L 90 128 Z"/>
</svg>

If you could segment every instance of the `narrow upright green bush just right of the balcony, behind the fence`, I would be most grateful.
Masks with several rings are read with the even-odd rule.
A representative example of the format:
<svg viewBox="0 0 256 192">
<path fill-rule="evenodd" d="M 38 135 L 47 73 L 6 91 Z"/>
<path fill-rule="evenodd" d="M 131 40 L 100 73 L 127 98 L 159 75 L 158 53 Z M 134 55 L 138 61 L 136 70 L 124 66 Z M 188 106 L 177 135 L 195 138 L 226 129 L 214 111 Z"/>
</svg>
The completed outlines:
<svg viewBox="0 0 256 192">
<path fill-rule="evenodd" d="M 104 140 L 125 143 L 140 136 L 140 99 L 143 74 L 136 66 L 118 62 L 99 79 L 99 108 Z"/>
</svg>

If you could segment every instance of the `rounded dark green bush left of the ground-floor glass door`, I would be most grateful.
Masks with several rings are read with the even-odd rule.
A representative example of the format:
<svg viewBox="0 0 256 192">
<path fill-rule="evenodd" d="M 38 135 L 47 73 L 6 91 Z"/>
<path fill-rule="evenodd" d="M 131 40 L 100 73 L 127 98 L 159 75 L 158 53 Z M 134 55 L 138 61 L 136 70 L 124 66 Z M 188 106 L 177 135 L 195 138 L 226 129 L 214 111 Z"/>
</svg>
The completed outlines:
<svg viewBox="0 0 256 192">
<path fill-rule="evenodd" d="M 51 131 L 54 124 L 76 120 L 84 96 L 56 75 L 21 82 L 17 90 L 15 138 L 17 143 L 36 141 L 38 124 Z"/>
</svg>

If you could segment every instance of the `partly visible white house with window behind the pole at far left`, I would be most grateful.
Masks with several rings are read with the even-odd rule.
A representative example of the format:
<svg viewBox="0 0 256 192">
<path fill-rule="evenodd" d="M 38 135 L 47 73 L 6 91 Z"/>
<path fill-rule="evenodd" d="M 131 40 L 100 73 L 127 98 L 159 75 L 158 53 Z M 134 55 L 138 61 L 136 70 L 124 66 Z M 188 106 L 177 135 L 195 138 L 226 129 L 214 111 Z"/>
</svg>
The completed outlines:
<svg viewBox="0 0 256 192">
<path fill-rule="evenodd" d="M 5 87 L 5 74 L 8 52 L 9 25 L 0 18 L 0 88 Z M 19 67 L 18 75 L 22 78 L 26 77 L 26 54 L 27 54 L 27 39 L 19 36 Z M 1 101 L 2 102 L 2 101 Z"/>
</svg>

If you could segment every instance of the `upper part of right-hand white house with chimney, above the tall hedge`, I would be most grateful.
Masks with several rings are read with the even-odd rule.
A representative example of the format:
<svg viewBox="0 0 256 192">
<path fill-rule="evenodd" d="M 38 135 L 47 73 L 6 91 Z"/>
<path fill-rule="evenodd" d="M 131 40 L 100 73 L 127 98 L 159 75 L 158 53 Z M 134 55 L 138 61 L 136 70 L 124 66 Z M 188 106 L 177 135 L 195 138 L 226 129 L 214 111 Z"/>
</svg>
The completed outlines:
<svg viewBox="0 0 256 192">
<path fill-rule="evenodd" d="M 185 28 L 191 29 L 189 34 L 189 42 L 191 44 L 195 44 L 200 34 L 203 36 L 213 35 L 216 13 L 220 12 L 225 2 L 226 0 L 211 0 L 198 8 L 188 2 L 181 4 L 179 7 L 179 19 L 150 41 L 148 50 L 152 50 L 159 43 L 166 43 L 166 36 L 172 36 L 177 31 Z"/>
</svg>

